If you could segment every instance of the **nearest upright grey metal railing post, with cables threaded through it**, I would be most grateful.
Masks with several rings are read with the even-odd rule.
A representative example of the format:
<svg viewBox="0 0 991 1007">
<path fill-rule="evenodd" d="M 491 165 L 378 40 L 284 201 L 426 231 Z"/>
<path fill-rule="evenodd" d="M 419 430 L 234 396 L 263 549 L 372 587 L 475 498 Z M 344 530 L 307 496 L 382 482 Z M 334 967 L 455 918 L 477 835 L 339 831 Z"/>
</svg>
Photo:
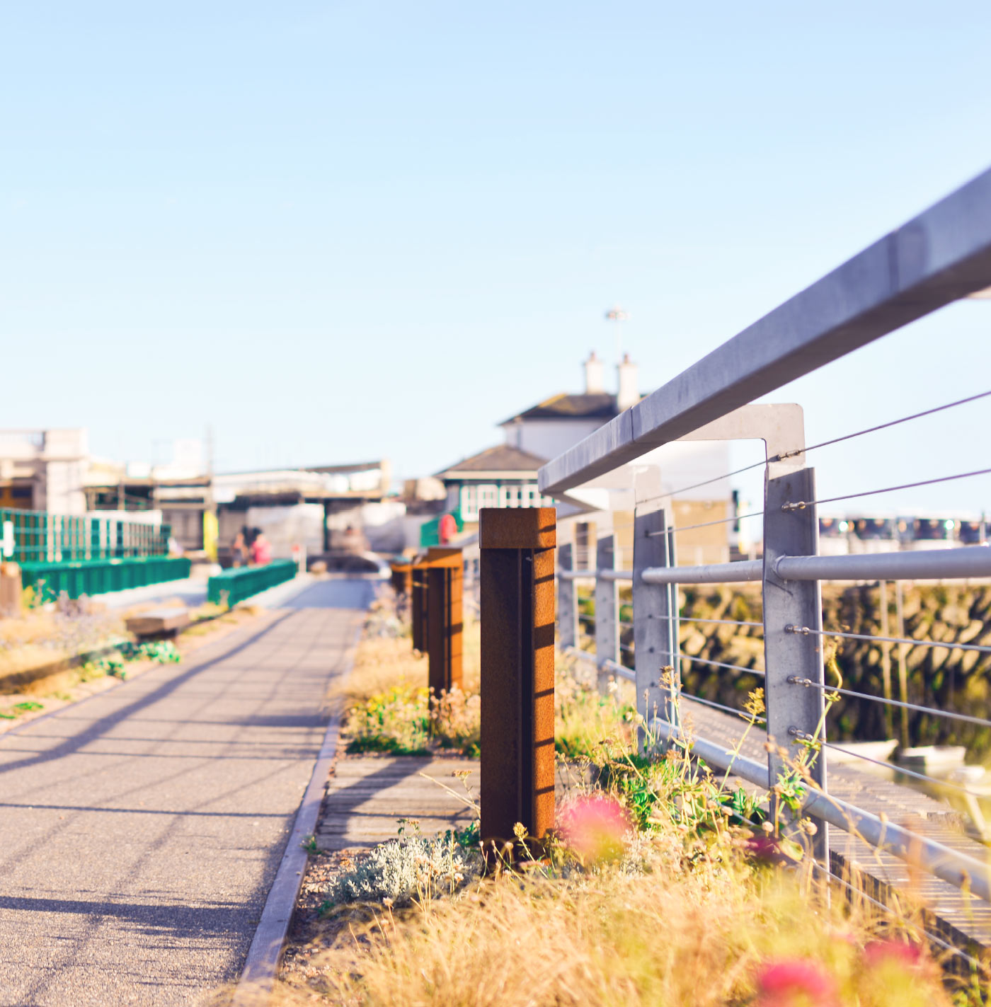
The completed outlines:
<svg viewBox="0 0 991 1007">
<path fill-rule="evenodd" d="M 763 515 L 764 700 L 767 737 L 774 747 L 767 757 L 768 783 L 788 774 L 790 764 L 806 754 L 802 737 L 825 740 L 823 637 L 802 633 L 802 627 L 821 631 L 823 606 L 819 581 L 785 581 L 774 572 L 782 556 L 815 556 L 819 552 L 819 521 L 815 505 L 784 510 L 787 505 L 816 498 L 815 471 L 800 468 L 765 482 Z M 787 755 L 778 754 L 778 748 Z M 810 766 L 812 779 L 826 790 L 826 752 L 820 750 Z M 813 844 L 817 858 L 828 863 L 825 822 Z"/>
</svg>

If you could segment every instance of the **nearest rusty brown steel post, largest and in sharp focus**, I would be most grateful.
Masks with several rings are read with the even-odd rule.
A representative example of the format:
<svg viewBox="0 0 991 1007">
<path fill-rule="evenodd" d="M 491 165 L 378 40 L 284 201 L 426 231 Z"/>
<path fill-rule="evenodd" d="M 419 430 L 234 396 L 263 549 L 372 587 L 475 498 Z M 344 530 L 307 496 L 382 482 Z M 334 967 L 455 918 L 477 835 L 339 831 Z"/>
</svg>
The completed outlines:
<svg viewBox="0 0 991 1007">
<path fill-rule="evenodd" d="M 554 508 L 482 508 L 481 838 L 554 825 Z"/>
</svg>

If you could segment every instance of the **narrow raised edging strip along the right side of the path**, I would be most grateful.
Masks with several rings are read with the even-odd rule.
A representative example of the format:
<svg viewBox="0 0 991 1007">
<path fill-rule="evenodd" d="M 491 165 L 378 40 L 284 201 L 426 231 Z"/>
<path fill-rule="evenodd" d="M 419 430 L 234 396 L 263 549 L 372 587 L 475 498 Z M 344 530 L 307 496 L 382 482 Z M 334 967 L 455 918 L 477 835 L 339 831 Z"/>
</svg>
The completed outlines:
<svg viewBox="0 0 991 1007">
<path fill-rule="evenodd" d="M 365 620 L 363 619 L 355 631 L 355 637 L 351 640 L 349 652 L 344 658 L 343 671 L 338 677 L 338 681 L 346 679 L 351 673 L 364 628 Z M 302 804 L 296 813 L 296 821 L 292 832 L 289 833 L 289 840 L 286 843 L 285 852 L 282 854 L 282 862 L 279 864 L 275 880 L 272 882 L 272 887 L 265 900 L 262 918 L 258 922 L 258 929 L 255 930 L 255 937 L 248 949 L 248 958 L 245 961 L 241 979 L 234 991 L 231 1007 L 261 1007 L 261 1005 L 268 1003 L 272 995 L 275 975 L 282 958 L 282 949 L 285 947 L 289 923 L 292 921 L 292 913 L 296 908 L 296 899 L 299 897 L 303 874 L 306 871 L 308 854 L 303 849 L 303 840 L 312 835 L 316 828 L 324 787 L 330 774 L 330 765 L 337 753 L 340 721 L 341 711 L 338 710 L 330 718 L 326 733 L 323 735 L 323 744 L 316 756 L 313 774 L 310 776 Z"/>
</svg>

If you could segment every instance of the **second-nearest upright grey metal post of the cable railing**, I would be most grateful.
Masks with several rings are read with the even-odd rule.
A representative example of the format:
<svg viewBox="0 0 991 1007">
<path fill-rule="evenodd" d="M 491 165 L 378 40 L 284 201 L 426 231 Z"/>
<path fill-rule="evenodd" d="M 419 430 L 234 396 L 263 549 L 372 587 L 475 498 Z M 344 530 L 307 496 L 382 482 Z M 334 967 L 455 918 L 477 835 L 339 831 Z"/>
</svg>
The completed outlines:
<svg viewBox="0 0 991 1007">
<path fill-rule="evenodd" d="M 645 584 L 641 575 L 649 567 L 674 566 L 673 539 L 666 510 L 658 505 L 638 509 L 633 517 L 633 657 L 636 666 L 636 712 L 650 724 L 655 717 L 677 727 L 678 694 L 678 587 Z M 650 740 L 640 732 L 643 751 Z"/>
</svg>

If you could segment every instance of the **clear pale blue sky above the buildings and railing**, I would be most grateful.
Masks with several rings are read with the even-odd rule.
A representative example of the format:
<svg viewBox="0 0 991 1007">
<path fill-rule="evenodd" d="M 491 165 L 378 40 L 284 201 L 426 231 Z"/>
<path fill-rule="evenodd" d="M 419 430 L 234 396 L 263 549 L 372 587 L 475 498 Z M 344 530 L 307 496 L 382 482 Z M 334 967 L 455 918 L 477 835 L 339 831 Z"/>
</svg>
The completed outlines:
<svg viewBox="0 0 991 1007">
<path fill-rule="evenodd" d="M 991 164 L 989 29 L 987 3 L 3 4 L 0 427 L 428 473 L 611 362 L 613 303 L 650 391 Z M 989 331 L 954 306 L 780 397 L 819 439 L 983 391 Z M 854 442 L 824 488 L 983 467 L 967 416 Z M 991 484 L 893 502 L 950 498 Z"/>
</svg>

